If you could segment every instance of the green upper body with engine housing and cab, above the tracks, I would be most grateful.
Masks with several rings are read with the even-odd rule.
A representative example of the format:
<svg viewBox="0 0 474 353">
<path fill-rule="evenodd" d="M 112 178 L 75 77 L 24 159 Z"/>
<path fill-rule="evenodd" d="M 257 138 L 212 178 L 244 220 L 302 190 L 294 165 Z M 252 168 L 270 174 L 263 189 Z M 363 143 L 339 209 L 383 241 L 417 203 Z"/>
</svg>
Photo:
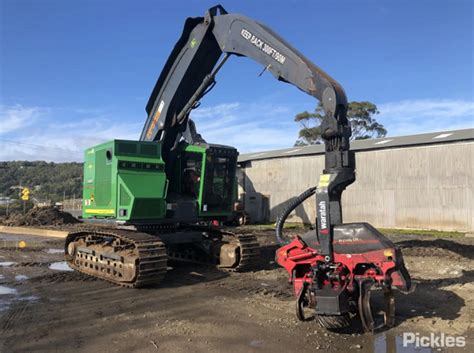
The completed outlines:
<svg viewBox="0 0 474 353">
<path fill-rule="evenodd" d="M 235 203 L 237 150 L 181 142 L 166 168 L 159 142 L 112 140 L 85 151 L 84 219 L 125 223 L 226 220 Z"/>
</svg>

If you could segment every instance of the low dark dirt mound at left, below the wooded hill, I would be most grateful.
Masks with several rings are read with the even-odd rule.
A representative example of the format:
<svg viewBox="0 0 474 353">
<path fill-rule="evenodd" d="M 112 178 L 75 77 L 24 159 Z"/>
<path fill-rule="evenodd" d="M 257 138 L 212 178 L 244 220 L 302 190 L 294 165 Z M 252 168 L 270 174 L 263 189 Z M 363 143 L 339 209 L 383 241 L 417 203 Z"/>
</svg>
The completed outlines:
<svg viewBox="0 0 474 353">
<path fill-rule="evenodd" d="M 48 226 L 80 223 L 80 221 L 68 212 L 63 212 L 55 207 L 35 207 L 26 214 L 14 213 L 10 217 L 2 219 L 6 226 Z"/>
</svg>

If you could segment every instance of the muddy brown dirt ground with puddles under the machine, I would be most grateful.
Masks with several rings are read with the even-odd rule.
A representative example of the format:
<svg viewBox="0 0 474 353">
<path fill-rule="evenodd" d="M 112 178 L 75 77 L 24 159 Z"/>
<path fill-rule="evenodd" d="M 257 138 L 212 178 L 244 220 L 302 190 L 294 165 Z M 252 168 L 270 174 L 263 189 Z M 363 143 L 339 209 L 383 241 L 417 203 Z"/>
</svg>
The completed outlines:
<svg viewBox="0 0 474 353">
<path fill-rule="evenodd" d="M 0 351 L 10 352 L 473 352 L 474 238 L 392 235 L 419 281 L 397 293 L 397 324 L 371 334 L 299 322 L 273 232 L 250 273 L 169 264 L 163 284 L 127 289 L 67 271 L 62 240 L 0 234 Z M 235 231 L 235 230 L 234 230 Z M 26 244 L 20 248 L 19 241 Z M 402 334 L 466 337 L 464 348 L 414 349 Z"/>
</svg>

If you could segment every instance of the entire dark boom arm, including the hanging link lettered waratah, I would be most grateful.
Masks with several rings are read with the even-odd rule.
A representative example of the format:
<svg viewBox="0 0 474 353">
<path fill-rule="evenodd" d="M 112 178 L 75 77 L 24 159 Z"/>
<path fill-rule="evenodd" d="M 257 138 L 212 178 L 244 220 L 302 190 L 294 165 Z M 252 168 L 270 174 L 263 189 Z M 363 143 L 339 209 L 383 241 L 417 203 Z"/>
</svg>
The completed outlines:
<svg viewBox="0 0 474 353">
<path fill-rule="evenodd" d="M 232 54 L 254 59 L 279 81 L 322 102 L 327 180 L 317 191 L 318 236 L 330 261 L 332 226 L 342 222 L 341 193 L 355 180 L 347 98 L 334 79 L 265 25 L 228 14 L 220 5 L 204 17 L 188 18 L 146 106 L 148 118 L 140 140 L 161 141 L 165 162 L 171 158 L 170 152 L 189 129 L 189 113 L 213 87 L 215 75 Z"/>
</svg>

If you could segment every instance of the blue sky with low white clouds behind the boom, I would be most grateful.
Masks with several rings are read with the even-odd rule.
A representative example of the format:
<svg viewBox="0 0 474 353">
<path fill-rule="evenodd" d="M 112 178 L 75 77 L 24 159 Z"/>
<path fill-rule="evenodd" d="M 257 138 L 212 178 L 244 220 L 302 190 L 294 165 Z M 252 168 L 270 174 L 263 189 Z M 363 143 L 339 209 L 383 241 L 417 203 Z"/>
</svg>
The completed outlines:
<svg viewBox="0 0 474 353">
<path fill-rule="evenodd" d="M 81 161 L 137 140 L 145 105 L 186 17 L 211 1 L 0 0 L 0 160 Z M 370 101 L 388 136 L 474 127 L 471 0 L 222 1 L 275 30 Z M 191 114 L 241 153 L 291 147 L 317 102 L 231 57 Z"/>
</svg>

